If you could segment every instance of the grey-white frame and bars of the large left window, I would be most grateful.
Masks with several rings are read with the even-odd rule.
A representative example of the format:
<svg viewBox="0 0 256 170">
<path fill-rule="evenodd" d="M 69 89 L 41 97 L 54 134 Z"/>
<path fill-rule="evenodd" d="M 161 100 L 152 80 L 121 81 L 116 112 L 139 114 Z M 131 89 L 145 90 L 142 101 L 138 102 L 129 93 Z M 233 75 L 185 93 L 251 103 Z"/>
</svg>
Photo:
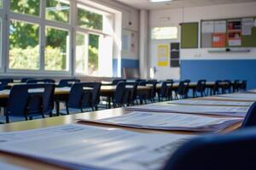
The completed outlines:
<svg viewBox="0 0 256 170">
<path fill-rule="evenodd" d="M 104 29 L 102 31 L 94 30 L 94 29 L 87 29 L 82 28 L 77 25 L 77 13 L 78 13 L 78 6 L 84 6 L 86 8 L 92 8 L 90 4 L 77 2 L 73 0 L 68 0 L 70 3 L 70 9 L 69 9 L 69 22 L 61 22 L 57 20 L 47 20 L 46 19 L 46 1 L 40 0 L 40 14 L 37 15 L 30 15 L 30 14 L 20 14 L 15 13 L 10 10 L 10 1 L 3 1 L 3 8 L 0 8 L 0 20 L 2 18 L 2 32 L 0 32 L 0 36 L 2 36 L 2 42 L 0 45 L 0 72 L 5 73 L 6 75 L 11 76 L 22 76 L 22 75 L 28 75 L 28 76 L 44 76 L 45 74 L 48 74 L 50 76 L 56 76 L 56 77 L 69 77 L 69 76 L 79 76 L 79 77 L 91 77 L 88 74 L 88 71 L 85 71 L 84 73 L 78 73 L 76 72 L 76 34 L 77 33 L 83 33 L 87 34 L 88 37 L 90 34 L 98 35 L 98 36 L 109 36 L 113 37 L 114 32 L 114 22 L 115 22 L 115 15 L 112 12 L 107 12 L 104 9 L 101 8 L 94 8 L 93 11 L 101 11 L 100 14 L 109 14 L 112 16 L 112 25 L 113 25 L 113 32 L 112 33 L 104 33 Z M 18 20 L 18 21 L 24 21 L 32 24 L 37 24 L 39 26 L 39 70 L 18 70 L 18 69 L 10 69 L 9 68 L 9 26 L 10 26 L 10 20 Z M 104 24 L 104 15 L 102 17 L 102 25 Z M 69 35 L 69 48 L 68 55 L 67 55 L 67 62 L 68 65 L 68 71 L 47 71 L 44 70 L 44 59 L 45 59 L 45 47 L 46 47 L 46 27 L 54 27 L 56 29 L 65 30 L 68 31 Z M 103 25 L 104 26 L 104 25 Z M 104 28 L 104 27 L 103 27 Z M 89 44 L 89 42 L 88 42 Z M 114 42 L 111 45 L 112 51 L 114 51 L 115 45 Z M 1 50 L 6 49 L 6 50 Z M 113 56 L 113 55 L 112 55 Z M 99 56 L 100 57 L 100 56 Z M 113 57 L 112 57 L 113 59 Z M 113 68 L 112 68 L 113 69 Z M 102 77 L 101 75 L 97 75 L 94 77 Z M 109 77 L 113 77 L 112 75 L 109 75 Z"/>
</svg>

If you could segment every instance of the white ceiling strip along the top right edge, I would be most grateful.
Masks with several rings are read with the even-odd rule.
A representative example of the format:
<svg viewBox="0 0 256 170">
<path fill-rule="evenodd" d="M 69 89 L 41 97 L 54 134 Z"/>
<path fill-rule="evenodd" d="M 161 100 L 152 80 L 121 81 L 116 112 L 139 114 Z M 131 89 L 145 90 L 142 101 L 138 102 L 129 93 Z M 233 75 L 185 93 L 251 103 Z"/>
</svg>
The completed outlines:
<svg viewBox="0 0 256 170">
<path fill-rule="evenodd" d="M 169 3 L 150 3 L 150 0 L 116 0 L 139 9 L 163 9 L 163 8 L 185 8 L 198 7 L 228 3 L 247 3 L 256 0 L 173 0 Z"/>
</svg>

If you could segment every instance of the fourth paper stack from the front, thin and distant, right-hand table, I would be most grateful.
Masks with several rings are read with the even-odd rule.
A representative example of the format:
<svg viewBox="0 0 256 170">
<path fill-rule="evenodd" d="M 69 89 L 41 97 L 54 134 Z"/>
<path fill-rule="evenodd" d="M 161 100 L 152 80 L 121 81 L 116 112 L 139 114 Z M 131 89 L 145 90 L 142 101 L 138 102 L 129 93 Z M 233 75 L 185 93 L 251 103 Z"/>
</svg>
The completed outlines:
<svg viewBox="0 0 256 170">
<path fill-rule="evenodd" d="M 181 99 L 169 102 L 170 104 L 179 105 L 220 105 L 220 106 L 251 106 L 253 102 L 238 101 L 220 101 L 220 100 L 197 100 L 197 99 Z"/>
</svg>

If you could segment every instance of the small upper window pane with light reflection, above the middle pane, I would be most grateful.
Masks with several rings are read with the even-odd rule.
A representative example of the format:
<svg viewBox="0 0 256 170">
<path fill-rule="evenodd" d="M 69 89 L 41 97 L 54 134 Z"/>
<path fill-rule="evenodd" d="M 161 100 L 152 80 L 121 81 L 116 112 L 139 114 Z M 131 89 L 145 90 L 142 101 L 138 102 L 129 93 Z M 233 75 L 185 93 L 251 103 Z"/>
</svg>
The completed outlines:
<svg viewBox="0 0 256 170">
<path fill-rule="evenodd" d="M 47 0 L 46 1 L 46 19 L 57 20 L 61 22 L 69 21 L 69 1 L 67 0 Z"/>
</svg>

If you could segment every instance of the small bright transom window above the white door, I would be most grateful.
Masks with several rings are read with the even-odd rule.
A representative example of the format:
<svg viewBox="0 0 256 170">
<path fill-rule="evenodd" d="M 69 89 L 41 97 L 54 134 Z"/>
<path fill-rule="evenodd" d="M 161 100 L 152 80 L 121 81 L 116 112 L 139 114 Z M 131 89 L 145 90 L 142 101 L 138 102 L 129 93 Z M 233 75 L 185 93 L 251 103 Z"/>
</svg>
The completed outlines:
<svg viewBox="0 0 256 170">
<path fill-rule="evenodd" d="M 155 27 L 151 30 L 151 39 L 177 39 L 177 26 Z"/>
</svg>

